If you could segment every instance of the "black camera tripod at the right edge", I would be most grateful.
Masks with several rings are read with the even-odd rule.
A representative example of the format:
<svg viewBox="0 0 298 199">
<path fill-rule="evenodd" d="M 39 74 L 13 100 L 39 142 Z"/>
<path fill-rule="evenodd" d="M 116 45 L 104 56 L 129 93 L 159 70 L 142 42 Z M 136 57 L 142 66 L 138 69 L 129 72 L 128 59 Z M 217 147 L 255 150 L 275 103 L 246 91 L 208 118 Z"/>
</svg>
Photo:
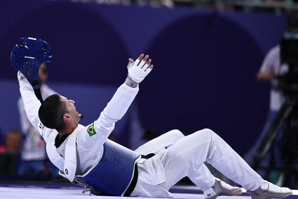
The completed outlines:
<svg viewBox="0 0 298 199">
<path fill-rule="evenodd" d="M 260 164 L 267 154 L 273 154 L 276 138 L 282 128 L 280 153 L 284 166 L 276 167 L 274 155 L 272 155 L 269 166 L 261 167 Z M 282 171 L 286 177 L 282 186 L 291 187 L 293 182 L 298 180 L 298 167 L 294 165 L 298 159 L 298 94 L 286 97 L 286 101 L 268 128 L 253 158 L 252 168 L 254 170 L 266 169 L 267 174 L 271 170 Z"/>
</svg>

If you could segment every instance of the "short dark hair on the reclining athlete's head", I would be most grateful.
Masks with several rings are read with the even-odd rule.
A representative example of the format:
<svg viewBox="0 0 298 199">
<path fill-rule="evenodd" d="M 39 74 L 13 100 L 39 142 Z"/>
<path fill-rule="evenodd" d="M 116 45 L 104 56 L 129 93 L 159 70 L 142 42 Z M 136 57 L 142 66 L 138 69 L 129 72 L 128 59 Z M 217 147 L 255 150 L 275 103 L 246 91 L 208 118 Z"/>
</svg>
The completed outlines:
<svg viewBox="0 0 298 199">
<path fill-rule="evenodd" d="M 47 97 L 38 110 L 38 116 L 43 125 L 50 129 L 56 129 L 58 132 L 65 129 L 66 124 L 63 115 L 68 113 L 65 103 L 57 94 Z"/>
</svg>

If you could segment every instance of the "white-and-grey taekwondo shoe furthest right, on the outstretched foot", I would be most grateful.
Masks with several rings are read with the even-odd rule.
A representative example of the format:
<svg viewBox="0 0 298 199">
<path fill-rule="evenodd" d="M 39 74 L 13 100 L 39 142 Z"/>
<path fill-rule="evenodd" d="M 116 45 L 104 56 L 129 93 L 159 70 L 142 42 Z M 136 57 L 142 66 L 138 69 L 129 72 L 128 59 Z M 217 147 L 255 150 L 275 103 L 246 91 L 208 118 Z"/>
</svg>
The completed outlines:
<svg viewBox="0 0 298 199">
<path fill-rule="evenodd" d="M 293 192 L 287 187 L 279 187 L 264 180 L 264 183 L 256 191 L 247 191 L 252 199 L 284 198 Z"/>
</svg>

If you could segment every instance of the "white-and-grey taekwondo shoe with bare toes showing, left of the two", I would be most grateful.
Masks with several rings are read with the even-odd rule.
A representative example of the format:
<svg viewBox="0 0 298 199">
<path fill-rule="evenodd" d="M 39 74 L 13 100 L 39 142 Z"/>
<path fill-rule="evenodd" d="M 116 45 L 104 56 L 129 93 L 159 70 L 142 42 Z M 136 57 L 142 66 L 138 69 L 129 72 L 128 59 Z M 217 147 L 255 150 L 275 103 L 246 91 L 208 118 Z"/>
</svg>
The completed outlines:
<svg viewBox="0 0 298 199">
<path fill-rule="evenodd" d="M 242 193 L 240 187 L 233 187 L 230 184 L 215 178 L 215 184 L 207 191 L 204 191 L 204 196 L 207 199 L 215 199 L 217 196 L 233 196 L 237 191 L 240 191 L 238 194 Z"/>
</svg>

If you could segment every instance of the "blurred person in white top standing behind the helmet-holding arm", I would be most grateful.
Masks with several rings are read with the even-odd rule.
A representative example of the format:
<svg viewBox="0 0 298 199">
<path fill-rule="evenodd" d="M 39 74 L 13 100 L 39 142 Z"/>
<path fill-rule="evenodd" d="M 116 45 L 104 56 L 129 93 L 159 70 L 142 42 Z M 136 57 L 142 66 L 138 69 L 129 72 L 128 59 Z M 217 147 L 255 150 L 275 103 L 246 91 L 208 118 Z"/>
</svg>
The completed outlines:
<svg viewBox="0 0 298 199">
<path fill-rule="evenodd" d="M 46 99 L 52 94 L 57 94 L 57 92 L 45 84 L 48 79 L 47 66 L 45 63 L 43 63 L 39 68 L 39 78 L 43 99 Z M 47 170 L 47 168 L 45 169 L 45 166 L 47 167 L 47 165 L 52 165 L 48 163 L 48 157 L 45 151 L 45 141 L 27 118 L 22 97 L 18 99 L 18 110 L 24 137 L 18 174 L 36 175 L 40 173 L 40 170 Z"/>
</svg>

